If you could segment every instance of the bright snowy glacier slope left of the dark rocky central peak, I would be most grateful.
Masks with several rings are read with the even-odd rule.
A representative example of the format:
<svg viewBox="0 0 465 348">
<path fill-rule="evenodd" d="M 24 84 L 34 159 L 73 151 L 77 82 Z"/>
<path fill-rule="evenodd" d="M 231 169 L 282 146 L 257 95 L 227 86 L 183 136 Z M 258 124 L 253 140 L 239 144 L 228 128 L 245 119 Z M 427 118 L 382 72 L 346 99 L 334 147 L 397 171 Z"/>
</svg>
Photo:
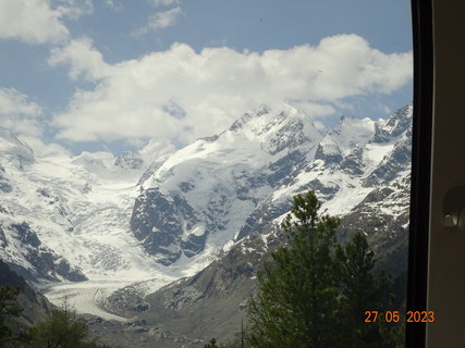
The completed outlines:
<svg viewBox="0 0 465 348">
<path fill-rule="evenodd" d="M 0 154 L 0 258 L 12 269 L 44 283 L 151 268 L 129 234 L 143 173 L 136 154 L 37 158 L 8 132 Z"/>
</svg>

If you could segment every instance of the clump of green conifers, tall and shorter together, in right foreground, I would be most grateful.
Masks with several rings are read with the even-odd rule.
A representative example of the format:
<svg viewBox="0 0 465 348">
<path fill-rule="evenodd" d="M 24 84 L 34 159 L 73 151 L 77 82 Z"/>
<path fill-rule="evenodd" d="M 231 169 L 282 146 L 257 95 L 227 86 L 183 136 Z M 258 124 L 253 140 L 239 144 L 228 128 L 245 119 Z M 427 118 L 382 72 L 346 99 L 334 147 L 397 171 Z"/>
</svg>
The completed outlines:
<svg viewBox="0 0 465 348">
<path fill-rule="evenodd" d="M 319 216 L 315 194 L 294 197 L 282 229 L 287 245 L 272 253 L 249 300 L 254 348 L 401 347 L 400 325 L 365 322 L 366 311 L 392 310 L 391 283 L 374 273 L 375 254 L 364 234 L 336 243 L 340 220 Z"/>
</svg>

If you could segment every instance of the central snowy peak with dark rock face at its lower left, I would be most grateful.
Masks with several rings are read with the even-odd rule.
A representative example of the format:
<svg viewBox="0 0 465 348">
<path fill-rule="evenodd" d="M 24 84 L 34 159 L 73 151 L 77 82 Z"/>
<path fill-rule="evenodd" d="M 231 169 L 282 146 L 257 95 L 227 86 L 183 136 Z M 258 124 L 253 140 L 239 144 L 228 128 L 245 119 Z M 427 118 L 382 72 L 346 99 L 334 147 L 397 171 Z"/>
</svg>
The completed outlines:
<svg viewBox="0 0 465 348">
<path fill-rule="evenodd" d="M 144 183 L 131 227 L 162 264 L 218 252 L 321 139 L 294 109 L 246 113 L 225 132 L 181 149 Z"/>
</svg>

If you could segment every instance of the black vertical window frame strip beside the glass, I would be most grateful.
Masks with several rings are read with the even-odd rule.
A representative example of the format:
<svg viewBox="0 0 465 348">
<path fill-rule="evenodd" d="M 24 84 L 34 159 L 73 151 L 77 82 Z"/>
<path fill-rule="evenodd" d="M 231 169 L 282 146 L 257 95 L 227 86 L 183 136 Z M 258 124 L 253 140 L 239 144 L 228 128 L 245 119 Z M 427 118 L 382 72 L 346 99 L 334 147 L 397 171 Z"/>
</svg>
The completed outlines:
<svg viewBox="0 0 465 348">
<path fill-rule="evenodd" d="M 414 113 L 408 239 L 407 310 L 425 310 L 428 285 L 431 139 L 433 104 L 433 27 L 431 1 L 412 0 Z M 405 347 L 426 346 L 426 324 L 406 325 Z"/>
</svg>

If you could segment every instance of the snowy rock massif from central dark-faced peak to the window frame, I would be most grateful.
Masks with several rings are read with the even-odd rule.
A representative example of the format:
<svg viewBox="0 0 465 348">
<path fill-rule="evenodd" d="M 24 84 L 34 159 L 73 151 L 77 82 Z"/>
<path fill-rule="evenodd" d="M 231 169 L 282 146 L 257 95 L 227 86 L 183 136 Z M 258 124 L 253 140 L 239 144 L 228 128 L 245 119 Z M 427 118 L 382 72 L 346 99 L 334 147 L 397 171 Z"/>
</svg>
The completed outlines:
<svg viewBox="0 0 465 348">
<path fill-rule="evenodd" d="M 322 135 L 291 108 L 258 108 L 157 163 L 142 183 L 133 234 L 169 265 L 279 222 L 292 196 L 309 189 L 327 212 L 347 214 L 409 167 L 411 119 L 412 107 L 388 120 L 342 117 Z"/>
</svg>

